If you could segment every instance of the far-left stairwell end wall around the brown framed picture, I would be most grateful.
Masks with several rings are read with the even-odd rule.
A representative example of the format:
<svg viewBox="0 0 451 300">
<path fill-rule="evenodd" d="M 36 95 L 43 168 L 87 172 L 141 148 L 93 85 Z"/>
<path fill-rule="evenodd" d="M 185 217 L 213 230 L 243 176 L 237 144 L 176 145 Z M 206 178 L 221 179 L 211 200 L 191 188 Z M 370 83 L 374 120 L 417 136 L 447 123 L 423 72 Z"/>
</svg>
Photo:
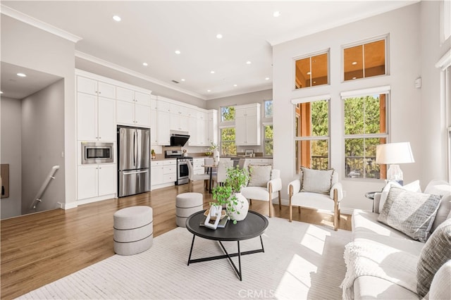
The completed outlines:
<svg viewBox="0 0 451 300">
<path fill-rule="evenodd" d="M 21 191 L 21 101 L 1 97 L 1 163 L 9 164 L 9 197 L 0 200 L 0 218 L 20 215 Z"/>
</svg>

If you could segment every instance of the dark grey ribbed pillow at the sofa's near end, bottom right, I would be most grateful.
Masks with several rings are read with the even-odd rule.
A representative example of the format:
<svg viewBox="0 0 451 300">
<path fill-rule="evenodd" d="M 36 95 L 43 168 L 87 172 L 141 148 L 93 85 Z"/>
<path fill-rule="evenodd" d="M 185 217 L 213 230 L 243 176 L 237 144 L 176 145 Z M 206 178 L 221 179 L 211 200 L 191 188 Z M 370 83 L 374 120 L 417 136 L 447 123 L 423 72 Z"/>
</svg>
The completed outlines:
<svg viewBox="0 0 451 300">
<path fill-rule="evenodd" d="M 421 249 L 416 267 L 416 292 L 420 299 L 428 294 L 435 273 L 450 259 L 451 219 L 447 219 L 437 227 Z"/>
</svg>

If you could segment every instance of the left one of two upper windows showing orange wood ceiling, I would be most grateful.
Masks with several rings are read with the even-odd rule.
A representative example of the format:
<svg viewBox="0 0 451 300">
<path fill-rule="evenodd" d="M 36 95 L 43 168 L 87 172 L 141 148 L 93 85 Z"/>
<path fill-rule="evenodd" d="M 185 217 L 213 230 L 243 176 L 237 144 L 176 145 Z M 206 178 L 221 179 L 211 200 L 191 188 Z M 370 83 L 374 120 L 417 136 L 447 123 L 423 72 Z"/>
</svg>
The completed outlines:
<svg viewBox="0 0 451 300">
<path fill-rule="evenodd" d="M 295 89 L 329 84 L 328 51 L 295 62 Z"/>
</svg>

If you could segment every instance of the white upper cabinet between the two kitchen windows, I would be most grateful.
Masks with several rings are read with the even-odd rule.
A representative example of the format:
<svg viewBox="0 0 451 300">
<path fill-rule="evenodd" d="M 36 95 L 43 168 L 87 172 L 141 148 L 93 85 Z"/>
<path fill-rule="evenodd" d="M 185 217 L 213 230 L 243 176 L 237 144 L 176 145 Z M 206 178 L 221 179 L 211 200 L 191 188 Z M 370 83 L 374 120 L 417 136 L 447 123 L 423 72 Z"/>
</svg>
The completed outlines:
<svg viewBox="0 0 451 300">
<path fill-rule="evenodd" d="M 260 145 L 260 104 L 235 107 L 235 144 L 237 146 Z"/>
</svg>

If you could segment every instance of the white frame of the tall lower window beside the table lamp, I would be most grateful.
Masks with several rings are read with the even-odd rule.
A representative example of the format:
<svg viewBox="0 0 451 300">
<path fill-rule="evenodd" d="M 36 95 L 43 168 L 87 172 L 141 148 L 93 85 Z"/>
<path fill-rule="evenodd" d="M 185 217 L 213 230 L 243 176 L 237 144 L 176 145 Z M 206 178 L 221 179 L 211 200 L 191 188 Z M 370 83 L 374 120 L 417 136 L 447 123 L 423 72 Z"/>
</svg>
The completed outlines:
<svg viewBox="0 0 451 300">
<path fill-rule="evenodd" d="M 348 92 L 341 92 L 341 107 L 342 107 L 342 142 L 343 142 L 343 149 L 342 149 L 342 159 L 343 159 L 343 171 L 342 175 L 343 178 L 346 180 L 384 180 L 386 178 L 386 168 L 380 168 L 380 172 L 384 172 L 381 176 L 381 178 L 371 178 L 371 177 L 350 177 L 347 174 L 347 168 L 346 168 L 346 140 L 347 139 L 385 139 L 385 143 L 390 143 L 390 86 L 383 86 L 383 87 L 373 87 L 369 89 L 357 89 L 353 91 Z M 364 97 L 364 96 L 371 96 L 374 94 L 385 94 L 387 95 L 385 97 L 385 133 L 369 133 L 369 134 L 359 134 L 359 135 L 345 135 L 345 99 L 354 98 L 354 97 Z M 365 173 L 364 173 L 365 174 Z"/>
</svg>

